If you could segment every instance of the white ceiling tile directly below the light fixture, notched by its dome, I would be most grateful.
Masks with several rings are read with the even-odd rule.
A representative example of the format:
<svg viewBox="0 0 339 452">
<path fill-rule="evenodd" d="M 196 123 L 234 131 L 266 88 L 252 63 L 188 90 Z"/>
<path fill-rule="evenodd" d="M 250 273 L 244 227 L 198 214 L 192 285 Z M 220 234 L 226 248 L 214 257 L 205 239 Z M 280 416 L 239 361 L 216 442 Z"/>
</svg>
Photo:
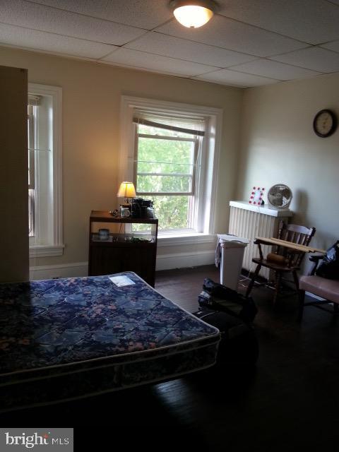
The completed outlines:
<svg viewBox="0 0 339 452">
<path fill-rule="evenodd" d="M 268 55 L 306 47 L 306 44 L 289 37 L 280 36 L 218 15 L 201 28 L 185 28 L 179 25 L 177 20 L 173 20 L 156 28 L 155 31 L 223 47 L 235 52 L 252 54 L 257 57 L 267 57 Z"/>
</svg>

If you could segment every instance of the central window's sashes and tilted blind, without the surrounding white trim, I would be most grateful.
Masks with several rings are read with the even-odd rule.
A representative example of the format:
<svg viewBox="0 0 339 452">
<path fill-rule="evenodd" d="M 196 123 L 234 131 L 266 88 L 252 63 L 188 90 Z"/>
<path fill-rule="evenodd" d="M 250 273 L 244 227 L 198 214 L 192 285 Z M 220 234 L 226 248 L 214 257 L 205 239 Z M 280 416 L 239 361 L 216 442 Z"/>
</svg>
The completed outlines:
<svg viewBox="0 0 339 452">
<path fill-rule="evenodd" d="M 160 230 L 196 230 L 206 119 L 136 110 L 133 122 L 137 195 L 153 199 Z"/>
</svg>

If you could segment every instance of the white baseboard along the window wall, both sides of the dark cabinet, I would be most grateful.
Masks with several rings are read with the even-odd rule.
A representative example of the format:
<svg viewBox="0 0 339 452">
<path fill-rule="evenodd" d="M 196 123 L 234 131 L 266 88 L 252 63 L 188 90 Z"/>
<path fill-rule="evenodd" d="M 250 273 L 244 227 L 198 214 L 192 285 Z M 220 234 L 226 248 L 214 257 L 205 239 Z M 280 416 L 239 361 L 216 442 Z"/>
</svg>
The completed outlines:
<svg viewBox="0 0 339 452">
<path fill-rule="evenodd" d="M 157 256 L 156 270 L 206 266 L 214 263 L 214 251 L 196 251 L 191 253 L 160 254 Z M 61 263 L 51 266 L 30 267 L 30 280 L 52 278 L 73 278 L 88 275 L 88 262 Z"/>
</svg>

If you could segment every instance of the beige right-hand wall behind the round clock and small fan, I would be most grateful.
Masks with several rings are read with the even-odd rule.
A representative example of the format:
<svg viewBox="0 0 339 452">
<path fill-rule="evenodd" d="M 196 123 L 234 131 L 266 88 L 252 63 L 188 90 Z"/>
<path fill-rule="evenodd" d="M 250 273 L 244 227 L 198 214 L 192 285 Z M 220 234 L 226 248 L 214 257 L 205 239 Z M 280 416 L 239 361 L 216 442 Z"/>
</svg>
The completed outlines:
<svg viewBox="0 0 339 452">
<path fill-rule="evenodd" d="M 313 119 L 328 108 L 339 116 L 339 75 L 246 90 L 237 198 L 252 186 L 290 186 L 293 221 L 315 226 L 314 245 L 339 237 L 339 129 L 328 138 L 313 131 Z"/>
</svg>

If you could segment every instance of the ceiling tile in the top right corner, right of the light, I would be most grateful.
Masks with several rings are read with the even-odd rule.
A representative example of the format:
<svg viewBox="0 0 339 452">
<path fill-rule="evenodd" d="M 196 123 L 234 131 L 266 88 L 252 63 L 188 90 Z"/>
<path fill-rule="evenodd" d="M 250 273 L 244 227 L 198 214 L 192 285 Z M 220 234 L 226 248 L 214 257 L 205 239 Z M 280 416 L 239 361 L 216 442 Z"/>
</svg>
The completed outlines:
<svg viewBox="0 0 339 452">
<path fill-rule="evenodd" d="M 326 0 L 219 0 L 219 13 L 309 44 L 339 39 L 339 8 Z M 337 1 L 339 4 L 339 1 Z"/>
</svg>

